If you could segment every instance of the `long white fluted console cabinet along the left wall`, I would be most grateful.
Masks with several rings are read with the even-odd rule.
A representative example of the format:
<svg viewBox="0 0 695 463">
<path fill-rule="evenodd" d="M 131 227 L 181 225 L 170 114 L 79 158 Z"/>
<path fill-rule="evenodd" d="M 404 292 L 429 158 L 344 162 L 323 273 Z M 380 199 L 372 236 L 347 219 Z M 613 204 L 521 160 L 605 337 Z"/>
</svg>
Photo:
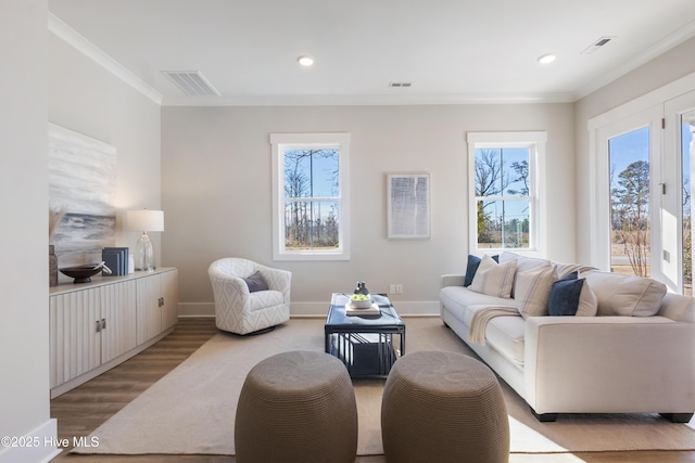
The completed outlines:
<svg viewBox="0 0 695 463">
<path fill-rule="evenodd" d="M 178 270 L 50 288 L 51 398 L 100 375 L 174 330 Z"/>
</svg>

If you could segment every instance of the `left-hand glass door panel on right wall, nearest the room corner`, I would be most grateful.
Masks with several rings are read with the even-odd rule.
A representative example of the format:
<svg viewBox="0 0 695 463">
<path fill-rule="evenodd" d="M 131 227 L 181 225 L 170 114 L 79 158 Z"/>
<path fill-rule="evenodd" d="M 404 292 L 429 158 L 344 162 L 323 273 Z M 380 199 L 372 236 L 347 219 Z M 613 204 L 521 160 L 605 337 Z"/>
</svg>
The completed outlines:
<svg viewBox="0 0 695 463">
<path fill-rule="evenodd" d="M 602 270 L 662 281 L 665 262 L 680 261 L 664 247 L 665 222 L 672 222 L 662 214 L 665 191 L 675 189 L 664 188 L 662 117 L 656 105 L 596 129 L 592 265 Z"/>
</svg>

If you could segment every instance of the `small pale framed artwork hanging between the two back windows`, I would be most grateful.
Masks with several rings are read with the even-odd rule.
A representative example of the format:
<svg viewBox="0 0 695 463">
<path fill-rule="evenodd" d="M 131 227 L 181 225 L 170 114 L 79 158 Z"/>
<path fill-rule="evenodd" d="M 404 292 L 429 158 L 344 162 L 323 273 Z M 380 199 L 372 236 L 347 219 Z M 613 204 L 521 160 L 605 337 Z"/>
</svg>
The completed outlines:
<svg viewBox="0 0 695 463">
<path fill-rule="evenodd" d="M 429 173 L 387 173 L 387 229 L 390 240 L 430 237 Z"/>
</svg>

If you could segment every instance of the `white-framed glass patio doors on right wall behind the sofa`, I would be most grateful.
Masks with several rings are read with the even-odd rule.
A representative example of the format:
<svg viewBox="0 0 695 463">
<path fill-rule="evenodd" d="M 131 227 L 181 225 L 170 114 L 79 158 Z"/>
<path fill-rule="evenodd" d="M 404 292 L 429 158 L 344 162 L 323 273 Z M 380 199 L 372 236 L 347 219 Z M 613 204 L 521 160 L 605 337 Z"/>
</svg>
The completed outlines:
<svg viewBox="0 0 695 463">
<path fill-rule="evenodd" d="M 695 75 L 589 120 L 591 265 L 693 294 Z"/>
</svg>

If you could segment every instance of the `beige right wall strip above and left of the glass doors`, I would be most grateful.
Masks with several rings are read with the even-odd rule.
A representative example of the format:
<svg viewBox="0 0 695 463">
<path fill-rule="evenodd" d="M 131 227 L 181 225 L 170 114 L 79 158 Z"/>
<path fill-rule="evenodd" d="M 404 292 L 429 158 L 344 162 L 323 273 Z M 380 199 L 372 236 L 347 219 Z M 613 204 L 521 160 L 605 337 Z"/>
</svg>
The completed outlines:
<svg viewBox="0 0 695 463">
<path fill-rule="evenodd" d="M 594 208 L 589 202 L 589 120 L 681 77 L 695 73 L 695 38 L 657 56 L 574 103 L 577 133 L 577 257 L 591 260 L 590 218 Z"/>
</svg>

